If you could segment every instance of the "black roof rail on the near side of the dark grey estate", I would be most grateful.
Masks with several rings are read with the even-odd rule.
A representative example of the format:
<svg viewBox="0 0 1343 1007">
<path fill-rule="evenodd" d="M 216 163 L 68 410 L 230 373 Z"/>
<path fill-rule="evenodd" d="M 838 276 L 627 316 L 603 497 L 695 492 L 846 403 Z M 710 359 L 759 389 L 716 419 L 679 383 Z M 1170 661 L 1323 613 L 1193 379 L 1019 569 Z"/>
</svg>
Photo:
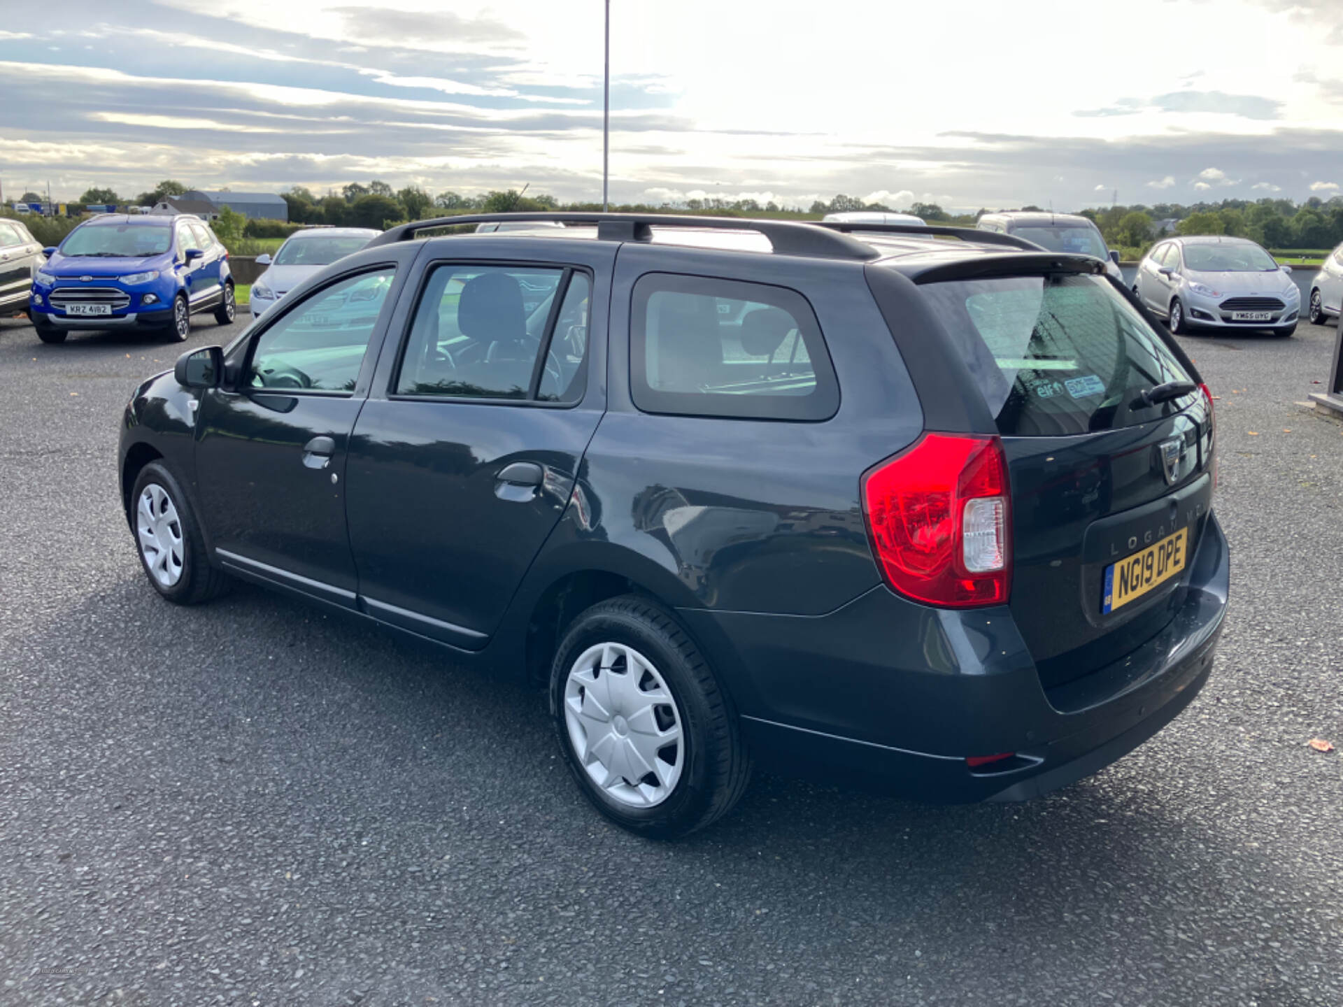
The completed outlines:
<svg viewBox="0 0 1343 1007">
<path fill-rule="evenodd" d="M 716 231 L 756 231 L 770 239 L 776 255 L 807 255 L 818 259 L 869 262 L 880 252 L 857 238 L 834 234 L 802 220 L 753 220 L 735 216 L 684 216 L 680 213 L 594 213 L 537 211 L 525 213 L 466 213 L 415 220 L 384 231 L 365 247 L 410 242 L 420 231 L 465 224 L 553 220 L 561 224 L 596 224 L 596 236 L 608 242 L 649 242 L 654 227 L 709 228 Z"/>
</svg>

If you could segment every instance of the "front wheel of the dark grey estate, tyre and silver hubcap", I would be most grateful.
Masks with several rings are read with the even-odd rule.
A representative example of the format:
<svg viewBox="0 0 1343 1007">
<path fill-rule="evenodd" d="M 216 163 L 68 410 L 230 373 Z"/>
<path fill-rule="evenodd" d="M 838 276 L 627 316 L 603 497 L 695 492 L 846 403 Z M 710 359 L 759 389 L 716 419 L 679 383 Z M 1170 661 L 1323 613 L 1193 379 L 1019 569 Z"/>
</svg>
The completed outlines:
<svg viewBox="0 0 1343 1007">
<path fill-rule="evenodd" d="M 169 602 L 199 604 L 228 587 L 228 577 L 205 557 L 205 542 L 191 501 L 161 462 L 150 462 L 136 478 L 130 491 L 130 526 L 145 576 Z"/>
</svg>

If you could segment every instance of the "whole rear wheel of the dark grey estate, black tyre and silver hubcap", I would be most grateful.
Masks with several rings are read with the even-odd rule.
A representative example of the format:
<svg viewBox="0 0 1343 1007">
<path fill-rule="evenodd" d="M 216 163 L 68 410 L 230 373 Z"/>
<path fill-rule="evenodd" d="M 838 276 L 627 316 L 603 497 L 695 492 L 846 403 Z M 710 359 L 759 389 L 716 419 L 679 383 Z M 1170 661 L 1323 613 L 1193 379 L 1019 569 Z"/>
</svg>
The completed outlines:
<svg viewBox="0 0 1343 1007">
<path fill-rule="evenodd" d="M 727 814 L 751 779 L 732 704 L 680 623 L 635 595 L 592 606 L 551 667 L 551 714 L 583 794 L 639 835 Z"/>
</svg>

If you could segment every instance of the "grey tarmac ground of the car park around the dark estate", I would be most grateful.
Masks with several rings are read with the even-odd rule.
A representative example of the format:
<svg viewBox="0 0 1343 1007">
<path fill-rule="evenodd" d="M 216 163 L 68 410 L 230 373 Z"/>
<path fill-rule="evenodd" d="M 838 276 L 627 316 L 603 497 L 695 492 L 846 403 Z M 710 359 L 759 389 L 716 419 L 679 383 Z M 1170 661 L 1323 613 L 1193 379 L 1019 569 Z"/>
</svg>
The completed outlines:
<svg viewBox="0 0 1343 1007">
<path fill-rule="evenodd" d="M 181 348 L 0 321 L 0 1003 L 1338 1007 L 1343 757 L 1307 741 L 1343 748 L 1343 424 L 1300 405 L 1332 341 L 1185 341 L 1233 603 L 1155 740 L 1018 806 L 757 777 L 657 845 L 537 691 L 261 589 L 160 602 L 113 458 Z"/>
</svg>

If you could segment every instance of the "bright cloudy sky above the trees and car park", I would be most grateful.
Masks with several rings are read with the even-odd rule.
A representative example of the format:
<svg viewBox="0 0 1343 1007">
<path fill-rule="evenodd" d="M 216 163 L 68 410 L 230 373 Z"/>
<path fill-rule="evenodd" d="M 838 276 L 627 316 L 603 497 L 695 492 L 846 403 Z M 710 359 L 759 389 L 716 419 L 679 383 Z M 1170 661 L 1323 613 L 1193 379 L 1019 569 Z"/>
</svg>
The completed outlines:
<svg viewBox="0 0 1343 1007">
<path fill-rule="evenodd" d="M 612 0 L 612 200 L 1332 196 L 1343 0 Z M 0 0 L 0 184 L 598 199 L 600 0 Z"/>
</svg>

